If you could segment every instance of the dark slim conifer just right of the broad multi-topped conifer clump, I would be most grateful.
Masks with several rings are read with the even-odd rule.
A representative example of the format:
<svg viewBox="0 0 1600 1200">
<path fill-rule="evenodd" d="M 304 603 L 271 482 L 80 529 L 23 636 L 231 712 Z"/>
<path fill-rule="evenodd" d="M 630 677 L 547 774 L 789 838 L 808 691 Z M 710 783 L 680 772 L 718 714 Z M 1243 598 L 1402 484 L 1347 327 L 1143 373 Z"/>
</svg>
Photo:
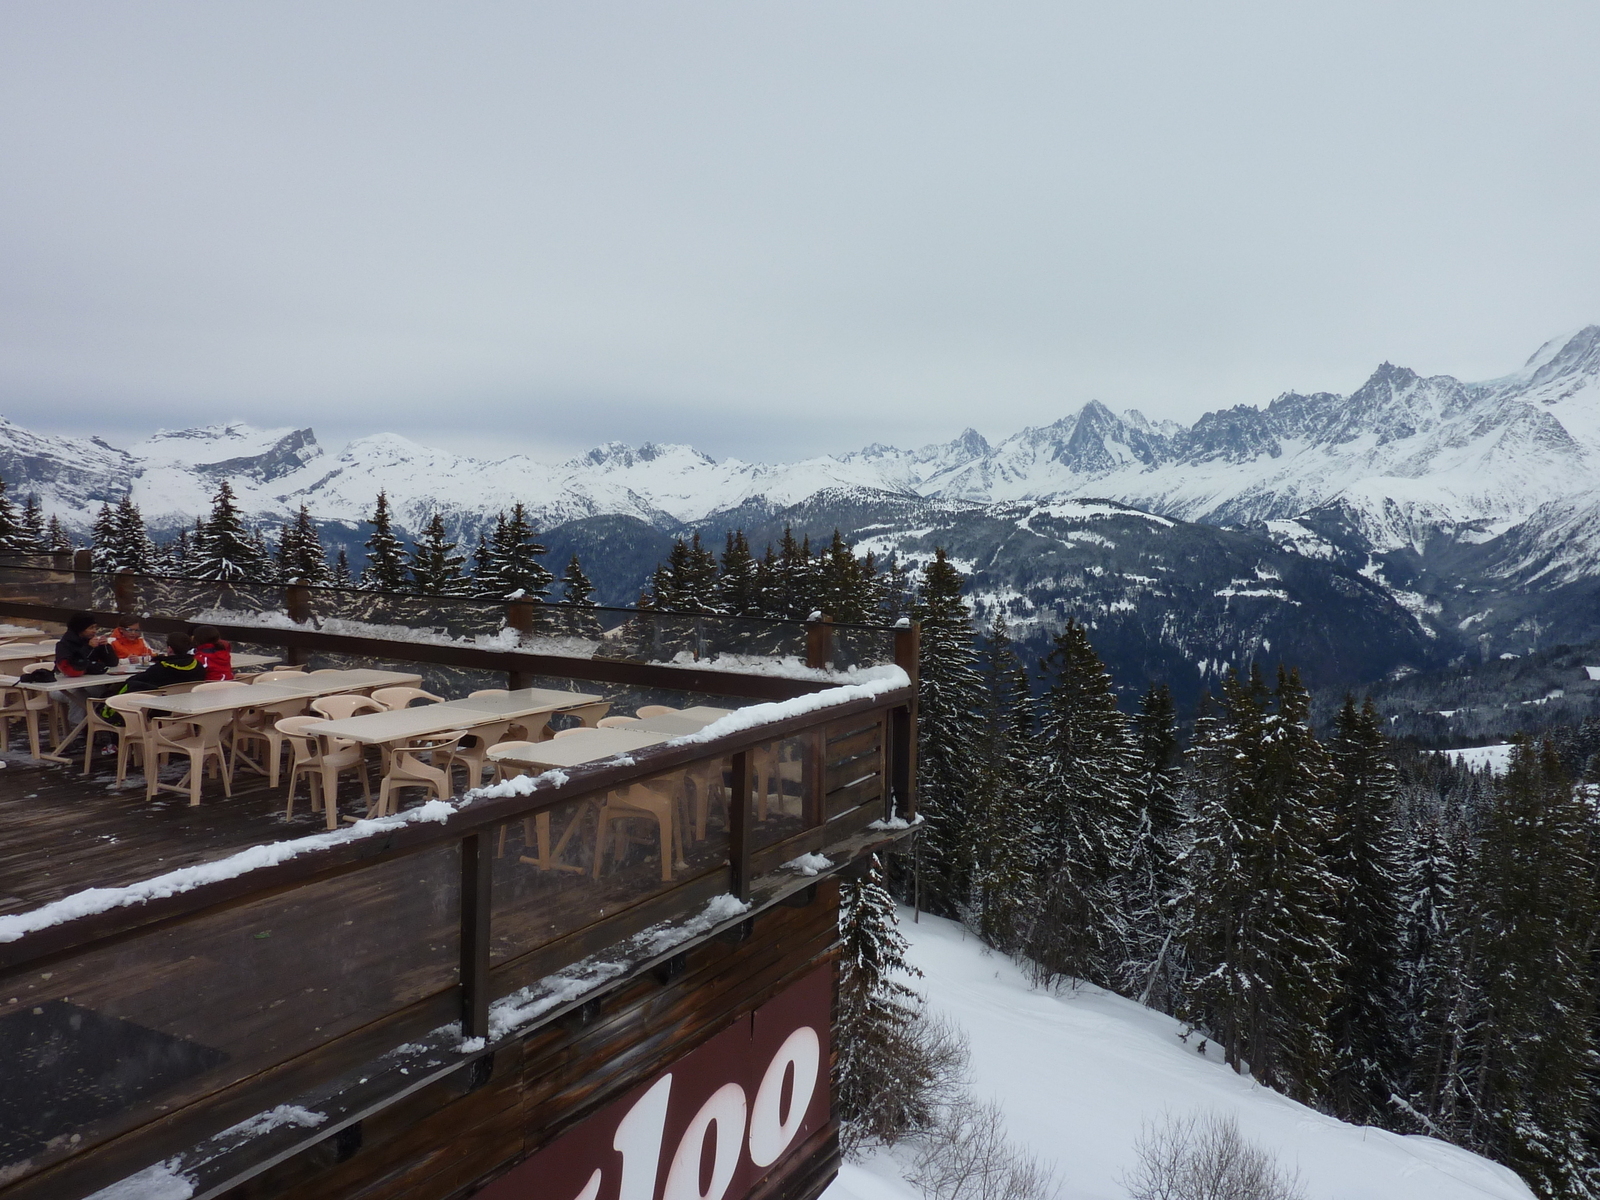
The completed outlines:
<svg viewBox="0 0 1600 1200">
<path fill-rule="evenodd" d="M 1330 869 L 1339 877 L 1338 998 L 1328 1019 L 1333 1074 L 1328 1099 L 1357 1125 L 1394 1120 L 1400 1094 L 1400 846 L 1398 773 L 1371 699 L 1352 696 L 1334 718 Z"/>
</svg>

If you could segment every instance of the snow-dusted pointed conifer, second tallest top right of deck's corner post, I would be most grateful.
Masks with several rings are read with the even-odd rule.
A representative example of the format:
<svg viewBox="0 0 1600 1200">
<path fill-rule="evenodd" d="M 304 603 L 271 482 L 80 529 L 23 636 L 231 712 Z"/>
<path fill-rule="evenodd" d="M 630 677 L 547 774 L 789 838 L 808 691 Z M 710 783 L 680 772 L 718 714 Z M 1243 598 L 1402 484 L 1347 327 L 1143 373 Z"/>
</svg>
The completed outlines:
<svg viewBox="0 0 1600 1200">
<path fill-rule="evenodd" d="M 1128 720 L 1088 630 L 1067 621 L 1040 664 L 1037 811 L 1046 866 L 1029 957 L 1045 978 L 1112 987 L 1128 960 L 1128 862 L 1139 822 Z"/>
</svg>

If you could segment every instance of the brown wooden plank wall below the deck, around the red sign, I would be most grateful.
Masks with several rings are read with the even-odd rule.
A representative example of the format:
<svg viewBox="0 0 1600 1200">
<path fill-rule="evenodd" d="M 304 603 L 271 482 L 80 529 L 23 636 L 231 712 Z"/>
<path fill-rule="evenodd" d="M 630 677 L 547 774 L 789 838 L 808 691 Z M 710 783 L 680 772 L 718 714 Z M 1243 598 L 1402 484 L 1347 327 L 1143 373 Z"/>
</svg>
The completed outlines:
<svg viewBox="0 0 1600 1200">
<path fill-rule="evenodd" d="M 565 1130 L 653 1078 L 738 1016 L 829 962 L 838 938 L 838 880 L 810 902 L 776 906 L 738 942 L 688 950 L 670 979 L 645 974 L 610 995 L 502 1046 L 475 1090 L 469 1072 L 424 1088 L 355 1131 L 227 1192 L 229 1200 L 454 1200 L 467 1197 Z M 786 1157 L 754 1194 L 811 1200 L 834 1178 L 830 1122 Z"/>
</svg>

